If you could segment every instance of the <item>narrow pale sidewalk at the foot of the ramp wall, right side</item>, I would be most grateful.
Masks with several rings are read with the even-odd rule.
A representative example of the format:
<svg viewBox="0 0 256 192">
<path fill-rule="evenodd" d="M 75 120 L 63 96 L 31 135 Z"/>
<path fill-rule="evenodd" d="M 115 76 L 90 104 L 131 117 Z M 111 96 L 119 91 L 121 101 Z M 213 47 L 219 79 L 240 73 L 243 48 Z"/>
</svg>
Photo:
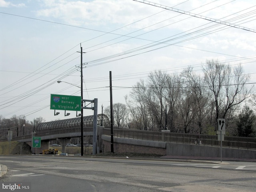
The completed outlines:
<svg viewBox="0 0 256 192">
<path fill-rule="evenodd" d="M 178 159 L 178 160 L 207 160 L 207 161 L 220 161 L 220 157 L 198 157 L 198 156 L 174 156 L 166 155 L 160 157 L 162 159 Z M 256 162 L 256 159 L 245 159 L 245 158 L 224 158 L 222 161 L 240 161 L 240 162 Z"/>
</svg>

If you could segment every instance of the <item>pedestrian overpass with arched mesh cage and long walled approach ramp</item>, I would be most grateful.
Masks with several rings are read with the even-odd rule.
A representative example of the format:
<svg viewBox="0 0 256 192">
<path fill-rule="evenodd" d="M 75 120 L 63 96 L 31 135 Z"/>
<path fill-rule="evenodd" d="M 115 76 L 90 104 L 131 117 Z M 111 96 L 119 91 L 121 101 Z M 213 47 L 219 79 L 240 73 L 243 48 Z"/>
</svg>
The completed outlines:
<svg viewBox="0 0 256 192">
<path fill-rule="evenodd" d="M 84 136 L 93 135 L 93 116 L 86 116 L 83 120 Z M 98 140 L 99 151 L 110 152 L 110 122 L 105 114 L 98 114 Z M 103 126 L 100 126 L 103 124 Z M 44 122 L 37 126 L 36 133 L 13 140 L 27 142 L 31 145 L 32 136 L 41 137 L 41 148 L 34 148 L 39 154 L 48 148 L 49 140 L 59 140 L 62 147 L 66 146 L 70 138 L 81 136 L 81 118 L 71 118 Z M 182 134 L 170 132 L 152 132 L 134 130 L 129 128 L 114 128 L 114 152 L 136 152 L 160 155 L 186 155 L 186 156 L 219 156 L 220 142 L 217 136 L 200 135 L 201 145 L 195 145 L 198 134 Z M 223 157 L 255 158 L 256 138 L 225 137 L 222 142 Z M 36 151 L 38 150 L 38 151 Z"/>
</svg>

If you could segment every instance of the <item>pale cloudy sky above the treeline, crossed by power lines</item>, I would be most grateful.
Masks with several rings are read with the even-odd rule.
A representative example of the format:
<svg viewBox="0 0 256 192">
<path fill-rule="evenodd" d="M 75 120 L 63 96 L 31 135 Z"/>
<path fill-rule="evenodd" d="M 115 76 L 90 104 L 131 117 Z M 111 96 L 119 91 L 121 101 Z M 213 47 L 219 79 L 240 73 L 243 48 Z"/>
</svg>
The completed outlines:
<svg viewBox="0 0 256 192">
<path fill-rule="evenodd" d="M 255 83 L 255 19 L 255 0 L 0 0 L 0 115 L 76 117 L 54 116 L 50 94 L 81 95 L 80 46 L 83 98 L 98 98 L 98 114 L 110 106 L 110 71 L 123 104 L 150 72 L 200 73 L 212 59 L 242 64 Z"/>
</svg>

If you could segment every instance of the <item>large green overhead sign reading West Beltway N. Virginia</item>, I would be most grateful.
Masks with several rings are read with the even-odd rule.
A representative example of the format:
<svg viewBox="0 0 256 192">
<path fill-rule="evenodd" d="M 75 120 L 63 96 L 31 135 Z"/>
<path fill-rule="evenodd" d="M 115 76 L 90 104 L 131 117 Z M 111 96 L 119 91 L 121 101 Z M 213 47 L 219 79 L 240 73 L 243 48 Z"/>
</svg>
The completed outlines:
<svg viewBox="0 0 256 192">
<path fill-rule="evenodd" d="M 81 97 L 51 94 L 50 109 L 80 111 Z"/>
</svg>

